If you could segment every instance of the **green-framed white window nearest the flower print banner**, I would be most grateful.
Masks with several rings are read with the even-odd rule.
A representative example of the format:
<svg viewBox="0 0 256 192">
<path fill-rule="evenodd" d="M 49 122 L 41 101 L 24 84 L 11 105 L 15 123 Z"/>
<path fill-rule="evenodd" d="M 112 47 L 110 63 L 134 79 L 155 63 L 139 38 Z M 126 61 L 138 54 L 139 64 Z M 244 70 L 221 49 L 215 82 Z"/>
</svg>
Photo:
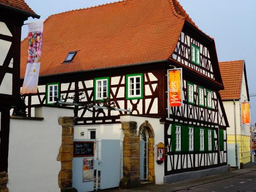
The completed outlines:
<svg viewBox="0 0 256 192">
<path fill-rule="evenodd" d="M 52 93 L 51 93 L 52 92 Z M 54 104 L 60 98 L 59 82 L 46 84 L 46 104 Z"/>
</svg>

